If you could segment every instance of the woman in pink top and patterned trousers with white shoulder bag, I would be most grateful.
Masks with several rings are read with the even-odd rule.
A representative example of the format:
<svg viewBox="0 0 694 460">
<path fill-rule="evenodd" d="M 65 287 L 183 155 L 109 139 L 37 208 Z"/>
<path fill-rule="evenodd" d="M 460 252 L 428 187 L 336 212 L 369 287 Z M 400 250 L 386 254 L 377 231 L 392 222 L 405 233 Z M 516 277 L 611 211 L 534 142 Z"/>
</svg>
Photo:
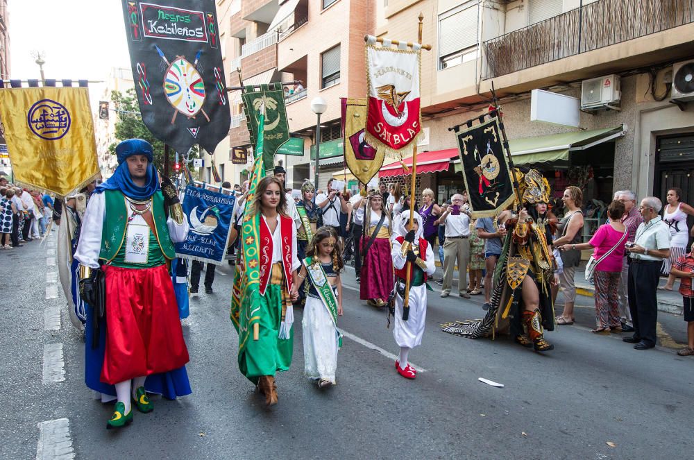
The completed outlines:
<svg viewBox="0 0 694 460">
<path fill-rule="evenodd" d="M 609 334 L 610 330 L 622 332 L 619 316 L 618 287 L 624 260 L 624 245 L 627 242 L 627 228 L 621 222 L 625 207 L 620 201 L 613 201 L 607 207 L 609 223 L 600 225 L 591 241 L 582 244 L 565 244 L 559 250 L 591 249 L 593 257 L 600 259 L 615 245 L 617 247 L 600 264 L 595 266 L 593 282 L 595 284 L 595 319 L 598 327 L 594 334 Z M 624 238 L 623 238 L 624 237 Z M 621 241 L 620 241 L 621 240 Z M 619 243 L 619 244 L 618 244 Z"/>
</svg>

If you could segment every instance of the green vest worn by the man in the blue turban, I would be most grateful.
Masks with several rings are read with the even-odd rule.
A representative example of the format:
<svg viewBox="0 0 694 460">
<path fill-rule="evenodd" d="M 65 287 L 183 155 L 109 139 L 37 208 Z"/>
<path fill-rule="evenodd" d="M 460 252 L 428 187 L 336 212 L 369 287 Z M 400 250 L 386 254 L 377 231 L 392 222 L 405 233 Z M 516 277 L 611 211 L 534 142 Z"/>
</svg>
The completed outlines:
<svg viewBox="0 0 694 460">
<path fill-rule="evenodd" d="M 99 259 L 111 262 L 115 259 L 126 238 L 126 228 L 128 226 L 128 203 L 125 196 L 118 190 L 105 190 L 106 216 L 103 221 L 101 232 L 101 253 Z M 164 214 L 164 196 L 161 191 L 156 191 L 152 196 L 152 215 L 154 217 L 155 237 L 157 243 L 164 254 L 164 257 L 171 260 L 176 257 L 174 243 L 169 236 L 167 226 L 167 216 Z"/>
</svg>

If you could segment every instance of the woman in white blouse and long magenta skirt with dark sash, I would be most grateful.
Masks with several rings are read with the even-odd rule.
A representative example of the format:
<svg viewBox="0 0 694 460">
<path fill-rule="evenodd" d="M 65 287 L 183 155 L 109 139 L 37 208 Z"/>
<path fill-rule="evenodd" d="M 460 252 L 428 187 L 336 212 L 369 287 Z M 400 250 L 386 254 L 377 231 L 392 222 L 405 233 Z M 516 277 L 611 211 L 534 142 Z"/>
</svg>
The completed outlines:
<svg viewBox="0 0 694 460">
<path fill-rule="evenodd" d="M 383 207 L 383 196 L 372 190 L 362 201 L 364 214 L 355 214 L 355 223 L 363 225 L 359 253 L 362 273 L 359 298 L 369 305 L 383 307 L 393 291 L 393 262 L 391 260 L 391 221 Z"/>
</svg>

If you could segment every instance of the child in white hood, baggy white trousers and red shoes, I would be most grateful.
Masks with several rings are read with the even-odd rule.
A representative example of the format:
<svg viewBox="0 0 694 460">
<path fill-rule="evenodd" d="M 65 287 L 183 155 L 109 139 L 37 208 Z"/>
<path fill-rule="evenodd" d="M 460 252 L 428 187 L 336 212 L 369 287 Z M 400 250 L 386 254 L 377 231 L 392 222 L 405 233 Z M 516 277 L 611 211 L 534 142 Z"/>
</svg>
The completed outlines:
<svg viewBox="0 0 694 460">
<path fill-rule="evenodd" d="M 398 373 L 407 379 L 414 379 L 417 373 L 407 361 L 409 350 L 422 343 L 424 324 L 427 313 L 428 277 L 436 271 L 434 250 L 424 239 L 422 217 L 415 212 L 412 228 L 409 226 L 409 210 L 393 217 L 393 266 L 396 275 L 395 325 L 393 337 L 400 347 L 400 357 L 395 366 Z M 407 279 L 407 262 L 410 262 L 409 273 L 409 313 L 403 319 L 405 280 Z"/>
</svg>

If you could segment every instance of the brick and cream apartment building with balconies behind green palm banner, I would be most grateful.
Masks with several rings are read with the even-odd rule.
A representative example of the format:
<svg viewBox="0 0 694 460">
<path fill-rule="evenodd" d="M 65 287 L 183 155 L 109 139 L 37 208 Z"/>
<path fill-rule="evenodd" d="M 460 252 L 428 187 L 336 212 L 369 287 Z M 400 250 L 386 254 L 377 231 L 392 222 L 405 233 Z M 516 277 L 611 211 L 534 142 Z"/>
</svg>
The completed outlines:
<svg viewBox="0 0 694 460">
<path fill-rule="evenodd" d="M 322 97 L 319 186 L 344 169 L 340 137 L 340 97 L 364 97 L 364 35 L 373 33 L 376 7 L 369 0 L 221 0 L 217 2 L 221 44 L 226 49 L 227 85 L 301 81 L 285 98 L 290 141 L 275 157 L 287 167 L 287 186 L 313 178 L 316 114 L 311 101 Z M 240 92 L 230 92 L 232 123 L 228 144 L 214 157 L 226 180 L 240 183 L 251 167 L 232 164 L 232 148 L 248 148 Z M 251 155 L 248 155 L 249 160 Z M 221 171 L 220 171 L 221 174 Z"/>
</svg>

